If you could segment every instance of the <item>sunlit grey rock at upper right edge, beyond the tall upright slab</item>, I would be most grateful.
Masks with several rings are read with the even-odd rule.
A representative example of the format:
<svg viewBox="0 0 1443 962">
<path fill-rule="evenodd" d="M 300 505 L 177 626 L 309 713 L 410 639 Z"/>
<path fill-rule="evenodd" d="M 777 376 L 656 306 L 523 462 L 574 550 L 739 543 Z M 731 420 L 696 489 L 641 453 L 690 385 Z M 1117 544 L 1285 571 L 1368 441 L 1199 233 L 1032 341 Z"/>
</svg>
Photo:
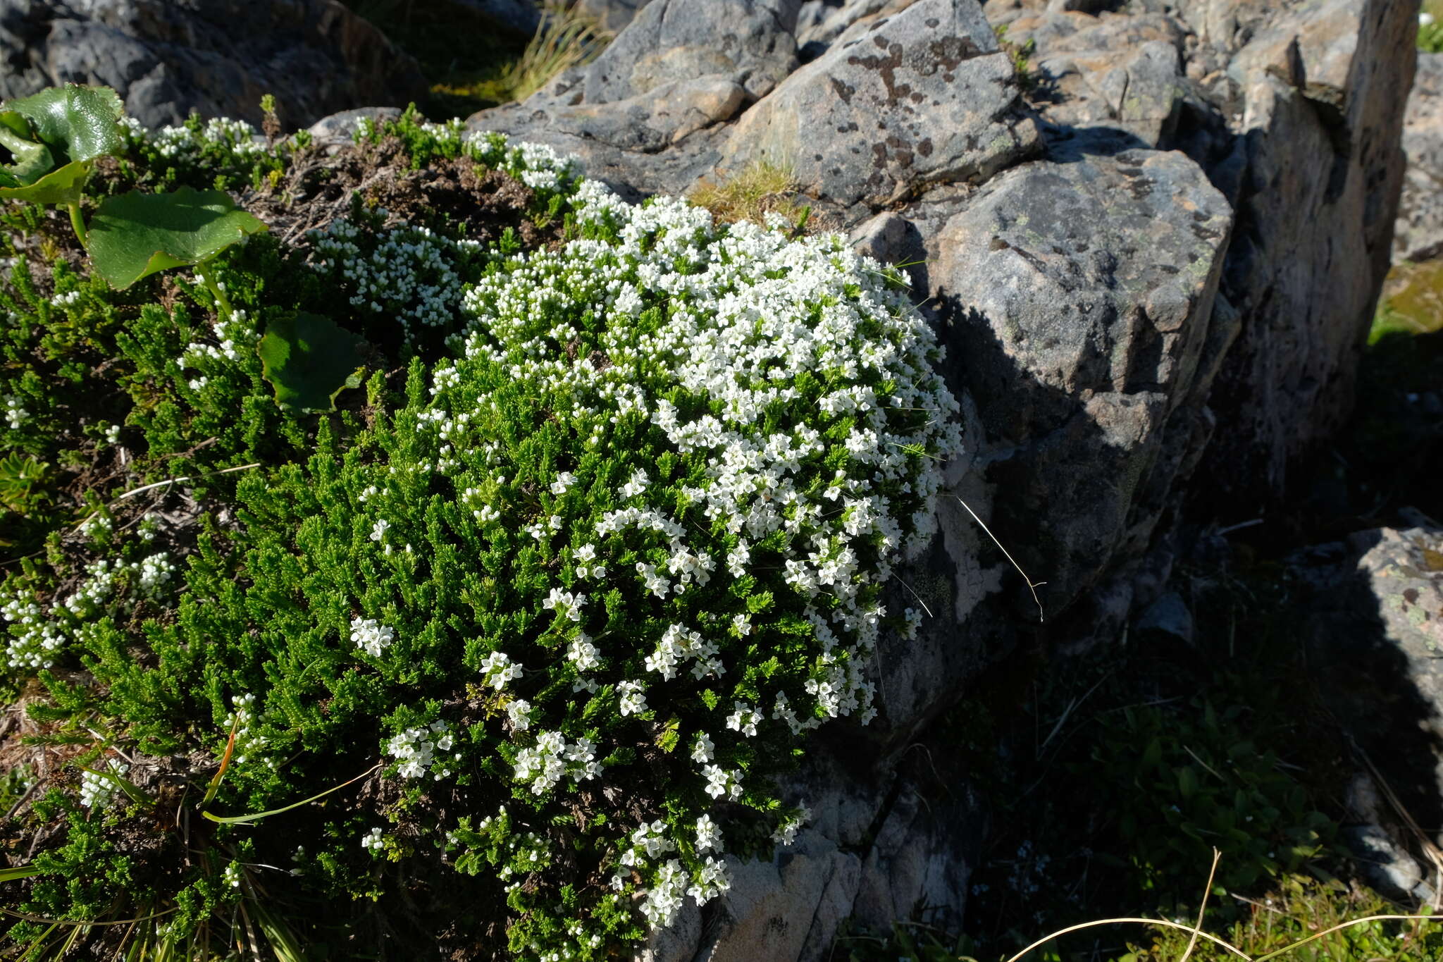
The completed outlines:
<svg viewBox="0 0 1443 962">
<path fill-rule="evenodd" d="M 1408 169 L 1392 232 L 1394 261 L 1443 254 L 1443 53 L 1418 53 L 1403 121 Z"/>
</svg>

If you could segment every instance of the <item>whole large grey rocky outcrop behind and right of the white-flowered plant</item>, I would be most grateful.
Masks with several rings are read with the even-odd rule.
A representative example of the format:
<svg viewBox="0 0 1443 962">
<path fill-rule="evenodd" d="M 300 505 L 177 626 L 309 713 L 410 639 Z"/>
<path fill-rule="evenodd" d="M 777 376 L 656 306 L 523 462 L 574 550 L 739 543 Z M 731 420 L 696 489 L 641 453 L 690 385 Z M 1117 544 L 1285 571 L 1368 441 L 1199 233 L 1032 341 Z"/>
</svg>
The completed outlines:
<svg viewBox="0 0 1443 962">
<path fill-rule="evenodd" d="M 786 787 L 814 822 L 737 865 L 730 897 L 690 909 L 649 959 L 827 958 L 847 916 L 886 926 L 922 900 L 960 920 L 986 805 L 909 747 L 1019 640 L 1087 645 L 1139 614 L 1186 637 L 1186 606 L 1163 596 L 1177 519 L 1280 496 L 1348 411 L 1414 16 L 1388 0 L 652 0 L 590 66 L 469 120 L 577 154 L 631 198 L 788 166 L 859 250 L 906 264 L 962 405 L 941 534 L 889 586 L 889 609 L 929 617 L 883 642 L 882 715 L 818 733 Z M 971 512 L 1046 581 L 1045 625 Z"/>
</svg>

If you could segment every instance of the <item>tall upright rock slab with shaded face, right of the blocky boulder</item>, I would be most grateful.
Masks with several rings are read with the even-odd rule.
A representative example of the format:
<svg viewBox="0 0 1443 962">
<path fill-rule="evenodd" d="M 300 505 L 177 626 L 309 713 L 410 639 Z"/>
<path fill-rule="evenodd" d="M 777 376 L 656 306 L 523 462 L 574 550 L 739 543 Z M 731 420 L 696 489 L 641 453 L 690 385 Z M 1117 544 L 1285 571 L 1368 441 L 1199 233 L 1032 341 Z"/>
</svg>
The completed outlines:
<svg viewBox="0 0 1443 962">
<path fill-rule="evenodd" d="M 1388 271 L 1416 32 L 1417 12 L 1387 0 L 1296 3 L 1228 68 L 1245 229 L 1222 290 L 1242 327 L 1214 389 L 1202 470 L 1234 503 L 1281 498 L 1289 463 L 1352 410 Z"/>
</svg>

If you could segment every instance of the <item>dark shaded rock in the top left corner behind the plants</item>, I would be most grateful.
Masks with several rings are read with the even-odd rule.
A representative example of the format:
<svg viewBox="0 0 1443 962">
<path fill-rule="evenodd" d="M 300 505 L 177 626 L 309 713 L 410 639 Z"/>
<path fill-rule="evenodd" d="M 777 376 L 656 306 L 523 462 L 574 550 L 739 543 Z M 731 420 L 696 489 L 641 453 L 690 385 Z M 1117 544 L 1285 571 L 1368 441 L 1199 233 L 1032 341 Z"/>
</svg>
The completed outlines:
<svg viewBox="0 0 1443 962">
<path fill-rule="evenodd" d="M 338 0 L 0 0 L 0 98 L 104 84 L 147 127 L 192 111 L 289 127 L 426 95 L 410 56 Z"/>
</svg>

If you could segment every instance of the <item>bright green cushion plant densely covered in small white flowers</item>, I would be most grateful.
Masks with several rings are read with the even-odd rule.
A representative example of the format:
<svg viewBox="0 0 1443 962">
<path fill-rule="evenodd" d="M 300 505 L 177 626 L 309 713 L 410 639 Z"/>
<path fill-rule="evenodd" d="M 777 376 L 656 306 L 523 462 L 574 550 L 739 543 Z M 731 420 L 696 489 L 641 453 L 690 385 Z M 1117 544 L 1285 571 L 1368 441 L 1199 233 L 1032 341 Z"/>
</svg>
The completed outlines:
<svg viewBox="0 0 1443 962">
<path fill-rule="evenodd" d="M 227 868 L 188 881 L 195 906 L 283 862 L 307 897 L 385 904 L 444 864 L 495 920 L 486 950 L 610 958 L 789 844 L 805 808 L 773 776 L 810 730 L 877 712 L 879 632 L 916 625 L 883 588 L 934 535 L 957 405 L 899 277 L 840 238 L 626 205 L 459 125 L 358 134 L 388 136 L 508 172 L 566 241 L 429 241 L 361 209 L 313 235 L 307 270 L 364 297 L 356 333 L 403 327 L 404 389 L 375 374 L 364 411 L 291 415 L 304 450 L 215 493 L 139 609 L 104 593 L 58 623 L 43 573 L 13 578 L 10 661 L 78 658 L 115 744 L 214 779 Z M 378 250 L 431 281 L 382 306 Z M 235 301 L 231 345 L 267 307 Z M 253 363 L 196 343 L 218 385 Z M 117 824 L 144 806 L 115 799 Z"/>
</svg>

